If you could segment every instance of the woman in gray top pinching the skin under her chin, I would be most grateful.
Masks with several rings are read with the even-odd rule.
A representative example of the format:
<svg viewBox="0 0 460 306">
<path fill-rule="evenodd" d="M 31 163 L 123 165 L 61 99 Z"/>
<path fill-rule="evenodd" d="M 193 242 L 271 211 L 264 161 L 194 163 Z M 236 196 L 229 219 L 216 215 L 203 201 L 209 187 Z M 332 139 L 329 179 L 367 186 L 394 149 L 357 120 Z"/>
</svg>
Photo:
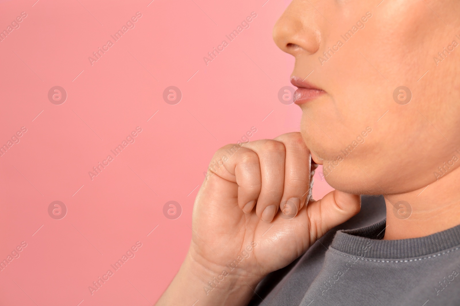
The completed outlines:
<svg viewBox="0 0 460 306">
<path fill-rule="evenodd" d="M 288 6 L 301 133 L 216 152 L 157 305 L 459 305 L 460 2 L 379 2 Z"/>
</svg>

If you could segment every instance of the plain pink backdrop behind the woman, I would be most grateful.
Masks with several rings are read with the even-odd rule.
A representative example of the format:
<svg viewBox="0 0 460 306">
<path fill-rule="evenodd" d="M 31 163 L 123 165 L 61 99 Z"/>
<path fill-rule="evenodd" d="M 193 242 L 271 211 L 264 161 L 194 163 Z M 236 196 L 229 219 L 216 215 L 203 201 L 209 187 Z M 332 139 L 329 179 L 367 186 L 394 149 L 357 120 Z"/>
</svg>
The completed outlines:
<svg viewBox="0 0 460 306">
<path fill-rule="evenodd" d="M 299 107 L 277 98 L 293 58 L 271 36 L 288 1 L 35 1 L 0 0 L 0 30 L 27 13 L 0 42 L 0 145 L 27 128 L 0 157 L 0 260 L 27 243 L 0 272 L 0 305 L 150 305 L 187 252 L 214 151 L 251 127 L 251 140 L 299 131 Z M 206 65 L 253 11 L 250 28 Z M 67 92 L 61 105 L 48 100 L 53 86 Z M 176 105 L 163 100 L 168 86 L 182 92 Z M 136 127 L 135 142 L 91 179 Z M 319 172 L 314 198 L 331 190 Z M 48 214 L 55 200 L 68 210 L 60 220 Z M 163 214 L 170 200 L 182 207 L 175 220 Z M 91 295 L 137 241 L 135 257 Z"/>
</svg>

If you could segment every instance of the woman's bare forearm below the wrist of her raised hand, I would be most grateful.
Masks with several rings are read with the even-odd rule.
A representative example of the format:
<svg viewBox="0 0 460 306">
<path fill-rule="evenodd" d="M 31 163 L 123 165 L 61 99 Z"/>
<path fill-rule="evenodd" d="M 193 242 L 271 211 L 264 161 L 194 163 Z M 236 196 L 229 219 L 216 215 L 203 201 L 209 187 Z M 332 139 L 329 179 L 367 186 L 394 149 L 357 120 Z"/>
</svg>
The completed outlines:
<svg viewBox="0 0 460 306">
<path fill-rule="evenodd" d="M 205 268 L 187 255 L 179 272 L 155 306 L 245 306 L 260 280 L 230 271 L 228 267 Z"/>
</svg>

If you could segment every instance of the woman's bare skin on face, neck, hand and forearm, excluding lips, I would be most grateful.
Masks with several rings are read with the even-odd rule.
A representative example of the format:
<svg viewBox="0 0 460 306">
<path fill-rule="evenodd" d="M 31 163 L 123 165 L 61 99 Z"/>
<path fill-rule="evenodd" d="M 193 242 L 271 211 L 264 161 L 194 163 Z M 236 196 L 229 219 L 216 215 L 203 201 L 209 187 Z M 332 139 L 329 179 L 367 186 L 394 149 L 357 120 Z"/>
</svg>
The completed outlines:
<svg viewBox="0 0 460 306">
<path fill-rule="evenodd" d="M 438 52 L 460 44 L 459 13 L 457 0 L 294 0 L 273 37 L 295 57 L 292 76 L 325 93 L 299 105 L 301 133 L 216 152 L 189 253 L 156 305 L 246 305 L 268 273 L 355 215 L 360 194 L 385 196 L 384 239 L 458 225 L 460 45 Z M 405 105 L 399 86 L 412 94 Z M 336 189 L 318 201 L 311 159 Z"/>
</svg>

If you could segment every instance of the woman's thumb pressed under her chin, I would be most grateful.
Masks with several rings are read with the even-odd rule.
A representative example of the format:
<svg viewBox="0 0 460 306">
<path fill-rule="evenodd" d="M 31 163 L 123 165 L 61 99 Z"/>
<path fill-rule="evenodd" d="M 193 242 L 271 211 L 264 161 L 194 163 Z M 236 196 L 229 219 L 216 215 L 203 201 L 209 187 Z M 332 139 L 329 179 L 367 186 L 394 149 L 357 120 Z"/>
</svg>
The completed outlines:
<svg viewBox="0 0 460 306">
<path fill-rule="evenodd" d="M 361 196 L 334 190 L 307 205 L 311 243 L 361 210 Z"/>
</svg>

